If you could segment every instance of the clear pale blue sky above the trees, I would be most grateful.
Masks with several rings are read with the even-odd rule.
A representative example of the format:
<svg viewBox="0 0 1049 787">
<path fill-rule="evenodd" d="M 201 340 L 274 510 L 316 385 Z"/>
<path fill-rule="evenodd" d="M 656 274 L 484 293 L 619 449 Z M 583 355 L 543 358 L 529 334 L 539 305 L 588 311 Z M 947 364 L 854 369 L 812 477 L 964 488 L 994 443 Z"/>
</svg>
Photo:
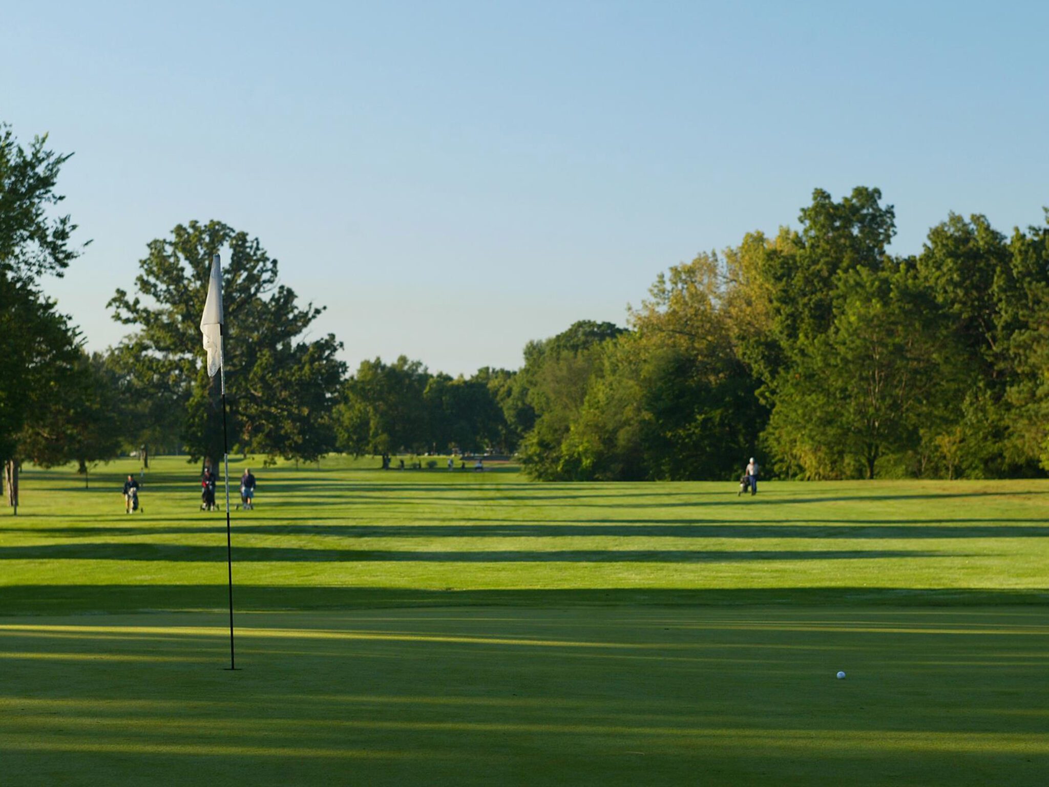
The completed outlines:
<svg viewBox="0 0 1049 787">
<path fill-rule="evenodd" d="M 0 120 L 74 151 L 91 348 L 146 242 L 259 236 L 345 359 L 515 367 L 656 274 L 878 186 L 894 249 L 1049 205 L 1042 2 L 8 3 Z"/>
</svg>

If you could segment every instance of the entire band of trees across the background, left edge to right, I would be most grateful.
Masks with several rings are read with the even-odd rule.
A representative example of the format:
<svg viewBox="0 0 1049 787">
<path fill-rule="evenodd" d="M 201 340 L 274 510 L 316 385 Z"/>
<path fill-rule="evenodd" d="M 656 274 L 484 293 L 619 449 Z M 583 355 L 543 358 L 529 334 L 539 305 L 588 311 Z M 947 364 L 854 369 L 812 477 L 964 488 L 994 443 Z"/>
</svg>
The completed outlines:
<svg viewBox="0 0 1049 787">
<path fill-rule="evenodd" d="M 816 190 L 797 227 L 755 232 L 657 276 L 626 326 L 580 321 L 518 369 L 453 378 L 416 360 L 347 375 L 323 306 L 280 282 L 258 238 L 190 221 L 152 240 L 128 334 L 105 353 L 44 294 L 81 254 L 57 215 L 68 155 L 0 126 L 0 460 L 222 453 L 198 329 L 222 253 L 234 451 L 515 453 L 541 480 L 728 478 L 761 454 L 782 477 L 1027 476 L 1049 467 L 1049 229 L 949 214 L 920 253 L 889 251 L 877 189 Z M 1049 224 L 1049 221 L 1047 221 Z M 148 460 L 145 460 L 148 462 Z M 384 459 L 384 464 L 388 460 Z"/>
</svg>

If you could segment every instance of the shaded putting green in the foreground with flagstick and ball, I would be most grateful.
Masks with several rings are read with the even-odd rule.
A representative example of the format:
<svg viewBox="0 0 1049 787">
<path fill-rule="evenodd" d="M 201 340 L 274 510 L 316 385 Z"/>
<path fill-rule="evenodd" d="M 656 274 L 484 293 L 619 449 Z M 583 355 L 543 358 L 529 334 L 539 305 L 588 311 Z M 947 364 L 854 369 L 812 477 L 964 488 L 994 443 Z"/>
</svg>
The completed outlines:
<svg viewBox="0 0 1049 787">
<path fill-rule="evenodd" d="M 12 784 L 1037 785 L 1049 615 L 745 607 L 0 621 Z M 848 673 L 836 680 L 838 669 Z"/>
</svg>

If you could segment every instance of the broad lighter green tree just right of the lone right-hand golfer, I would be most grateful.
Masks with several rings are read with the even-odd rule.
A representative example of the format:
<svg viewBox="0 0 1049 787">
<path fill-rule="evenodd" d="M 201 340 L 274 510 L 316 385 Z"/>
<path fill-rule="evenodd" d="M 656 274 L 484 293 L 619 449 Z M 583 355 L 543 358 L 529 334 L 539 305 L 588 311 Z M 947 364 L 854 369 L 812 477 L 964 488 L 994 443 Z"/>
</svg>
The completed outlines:
<svg viewBox="0 0 1049 787">
<path fill-rule="evenodd" d="M 842 272 L 834 295 L 830 328 L 782 376 L 768 439 L 787 472 L 873 478 L 957 421 L 957 343 L 906 264 Z"/>
</svg>

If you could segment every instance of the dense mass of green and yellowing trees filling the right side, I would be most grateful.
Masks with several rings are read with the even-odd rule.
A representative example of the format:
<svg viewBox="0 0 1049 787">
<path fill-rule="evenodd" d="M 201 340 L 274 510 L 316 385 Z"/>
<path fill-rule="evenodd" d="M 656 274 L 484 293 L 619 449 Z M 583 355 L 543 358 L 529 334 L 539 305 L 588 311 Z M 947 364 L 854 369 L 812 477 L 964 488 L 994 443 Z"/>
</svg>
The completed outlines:
<svg viewBox="0 0 1049 787">
<path fill-rule="evenodd" d="M 526 354 L 533 473 L 730 477 L 755 453 L 799 478 L 1049 467 L 1049 228 L 950 214 L 894 255 L 893 207 L 863 187 L 816 190 L 798 225 L 661 274 L 629 331 Z"/>
</svg>

